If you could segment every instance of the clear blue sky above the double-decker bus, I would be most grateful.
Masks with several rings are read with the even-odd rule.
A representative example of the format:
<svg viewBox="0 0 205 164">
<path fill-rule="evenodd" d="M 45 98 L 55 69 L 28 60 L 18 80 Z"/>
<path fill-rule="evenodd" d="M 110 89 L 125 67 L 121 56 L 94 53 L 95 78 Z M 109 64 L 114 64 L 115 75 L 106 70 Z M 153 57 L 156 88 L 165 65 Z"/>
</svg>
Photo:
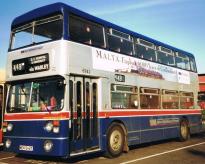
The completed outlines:
<svg viewBox="0 0 205 164">
<path fill-rule="evenodd" d="M 6 65 L 12 20 L 55 2 L 188 51 L 198 73 L 205 73 L 205 0 L 0 0 L 0 69 Z"/>
</svg>

